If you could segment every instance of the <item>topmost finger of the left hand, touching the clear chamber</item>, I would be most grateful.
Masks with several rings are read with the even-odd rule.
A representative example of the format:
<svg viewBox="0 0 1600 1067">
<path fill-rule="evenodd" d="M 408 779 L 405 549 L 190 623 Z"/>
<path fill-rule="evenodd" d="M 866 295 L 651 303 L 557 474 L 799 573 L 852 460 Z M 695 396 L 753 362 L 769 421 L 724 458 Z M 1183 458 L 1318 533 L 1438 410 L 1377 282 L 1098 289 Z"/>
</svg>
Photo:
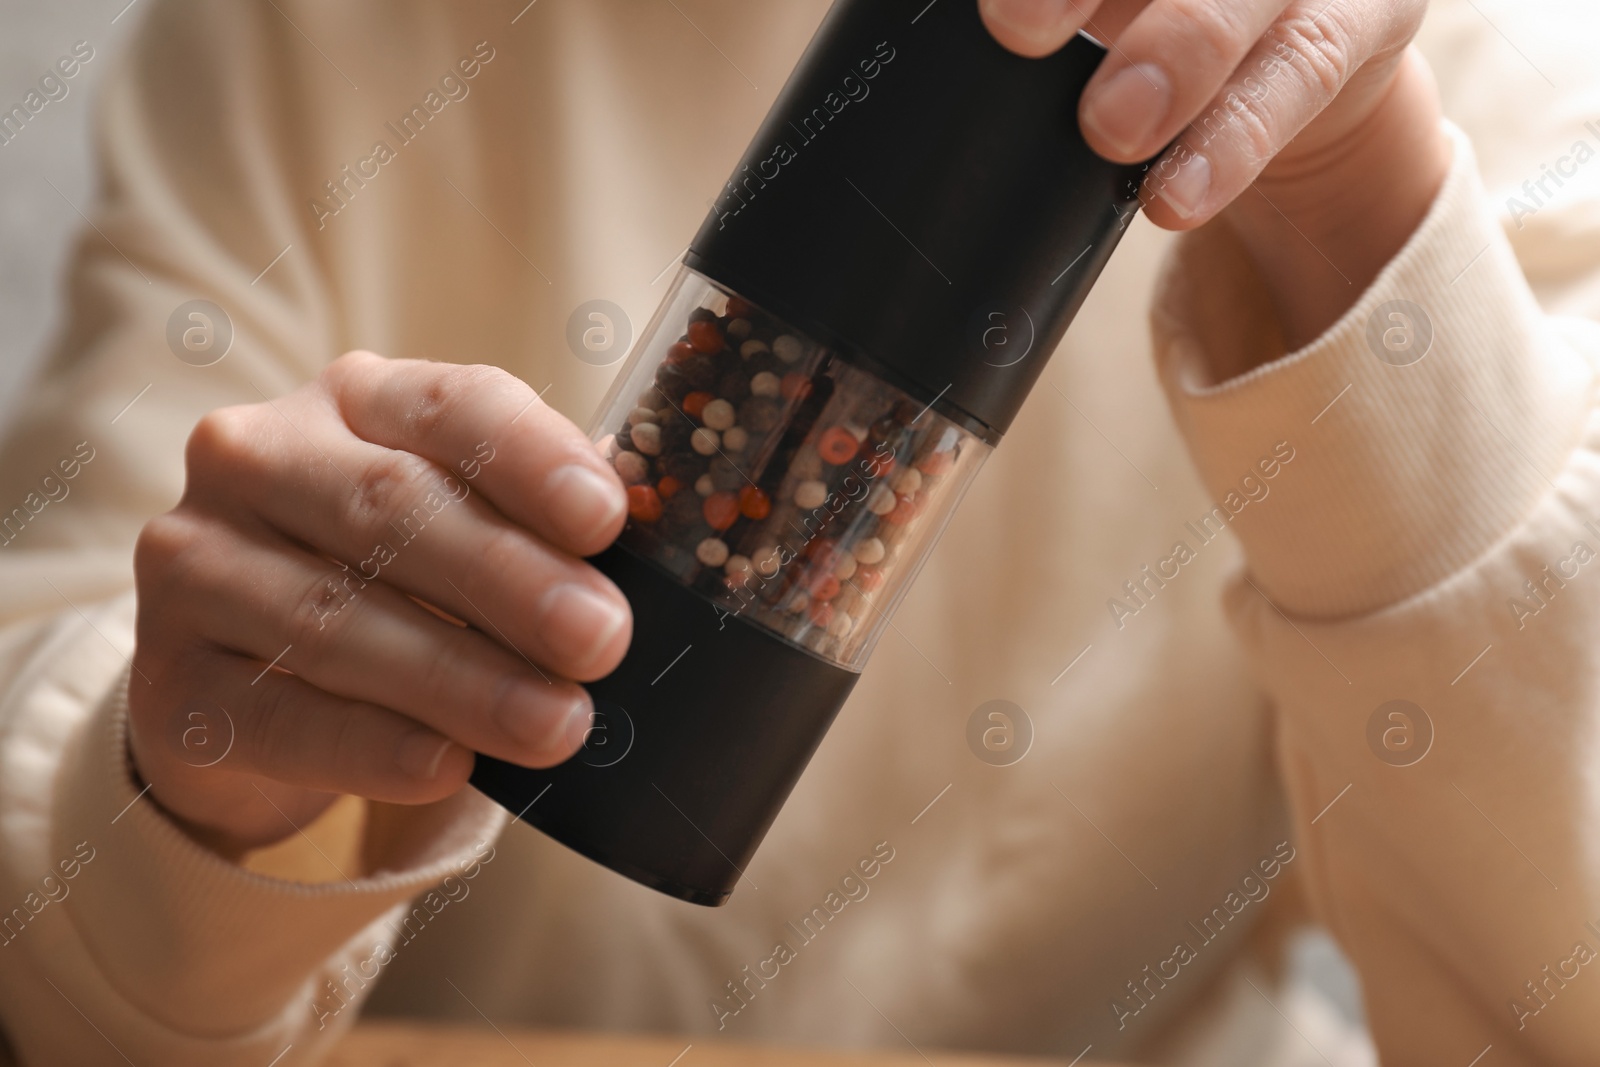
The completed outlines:
<svg viewBox="0 0 1600 1067">
<path fill-rule="evenodd" d="M 357 437 L 472 482 L 550 544 L 592 555 L 622 531 L 621 478 L 576 426 L 506 371 L 350 352 L 325 376 Z"/>
</svg>

